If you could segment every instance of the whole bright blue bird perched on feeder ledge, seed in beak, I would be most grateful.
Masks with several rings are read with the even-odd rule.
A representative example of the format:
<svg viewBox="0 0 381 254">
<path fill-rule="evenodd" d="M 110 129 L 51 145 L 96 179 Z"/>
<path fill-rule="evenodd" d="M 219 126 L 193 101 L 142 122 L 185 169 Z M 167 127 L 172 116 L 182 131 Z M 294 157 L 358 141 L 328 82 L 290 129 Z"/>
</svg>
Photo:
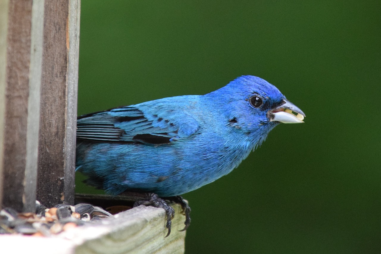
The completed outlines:
<svg viewBox="0 0 381 254">
<path fill-rule="evenodd" d="M 274 85 L 242 76 L 206 95 L 78 117 L 76 167 L 109 194 L 146 193 L 135 205 L 165 209 L 169 235 L 174 211 L 165 200 L 182 205 L 185 230 L 190 209 L 179 195 L 228 174 L 276 125 L 304 116 Z"/>
</svg>

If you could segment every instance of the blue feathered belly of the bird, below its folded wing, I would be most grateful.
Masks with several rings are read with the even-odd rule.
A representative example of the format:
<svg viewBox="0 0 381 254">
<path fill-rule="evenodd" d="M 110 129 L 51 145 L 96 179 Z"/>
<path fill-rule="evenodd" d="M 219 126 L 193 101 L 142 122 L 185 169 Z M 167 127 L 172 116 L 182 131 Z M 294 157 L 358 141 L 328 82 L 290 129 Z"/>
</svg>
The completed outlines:
<svg viewBox="0 0 381 254">
<path fill-rule="evenodd" d="M 113 195 L 133 190 L 176 196 L 228 174 L 250 153 L 226 144 L 217 137 L 165 145 L 79 143 L 77 167 Z"/>
</svg>

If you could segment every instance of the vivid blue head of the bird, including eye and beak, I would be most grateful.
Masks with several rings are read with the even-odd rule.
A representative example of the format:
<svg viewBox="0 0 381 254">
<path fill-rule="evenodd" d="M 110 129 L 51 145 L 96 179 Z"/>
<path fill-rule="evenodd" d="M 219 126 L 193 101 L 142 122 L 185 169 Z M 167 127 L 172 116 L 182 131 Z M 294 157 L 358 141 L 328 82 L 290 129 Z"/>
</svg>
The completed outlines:
<svg viewBox="0 0 381 254">
<path fill-rule="evenodd" d="M 267 135 L 280 122 L 302 123 L 306 116 L 278 88 L 255 76 L 238 77 L 208 95 L 221 102 L 228 124 L 243 132 Z"/>
</svg>

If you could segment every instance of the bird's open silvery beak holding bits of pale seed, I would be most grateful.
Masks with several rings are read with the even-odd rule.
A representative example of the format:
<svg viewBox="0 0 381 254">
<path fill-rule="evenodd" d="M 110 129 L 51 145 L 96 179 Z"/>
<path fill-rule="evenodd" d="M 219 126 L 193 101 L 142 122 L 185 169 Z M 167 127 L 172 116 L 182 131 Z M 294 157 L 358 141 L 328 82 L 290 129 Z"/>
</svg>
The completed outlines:
<svg viewBox="0 0 381 254">
<path fill-rule="evenodd" d="M 284 99 L 283 104 L 267 112 L 270 122 L 277 121 L 285 124 L 302 123 L 306 114 L 290 101 Z"/>
</svg>

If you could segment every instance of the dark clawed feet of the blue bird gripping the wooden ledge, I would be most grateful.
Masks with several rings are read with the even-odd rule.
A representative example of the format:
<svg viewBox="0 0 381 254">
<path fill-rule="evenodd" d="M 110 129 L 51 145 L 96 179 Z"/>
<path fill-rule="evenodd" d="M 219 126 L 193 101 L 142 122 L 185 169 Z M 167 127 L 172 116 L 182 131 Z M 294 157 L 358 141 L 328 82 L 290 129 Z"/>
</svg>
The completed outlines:
<svg viewBox="0 0 381 254">
<path fill-rule="evenodd" d="M 189 225 L 191 224 L 191 217 L 189 213 L 191 212 L 191 208 L 188 206 L 188 203 L 181 196 L 173 196 L 166 197 L 165 200 L 172 201 L 174 203 L 181 205 L 181 214 L 185 215 L 185 227 L 179 231 L 185 231 Z M 134 207 L 144 205 L 144 206 L 154 206 L 158 208 L 162 208 L 166 214 L 166 224 L 165 228 L 168 229 L 168 233 L 165 237 L 169 236 L 171 233 L 172 219 L 174 217 L 174 209 L 170 207 L 164 199 L 157 196 L 155 193 L 147 193 L 145 200 L 138 200 L 134 203 Z"/>
</svg>

